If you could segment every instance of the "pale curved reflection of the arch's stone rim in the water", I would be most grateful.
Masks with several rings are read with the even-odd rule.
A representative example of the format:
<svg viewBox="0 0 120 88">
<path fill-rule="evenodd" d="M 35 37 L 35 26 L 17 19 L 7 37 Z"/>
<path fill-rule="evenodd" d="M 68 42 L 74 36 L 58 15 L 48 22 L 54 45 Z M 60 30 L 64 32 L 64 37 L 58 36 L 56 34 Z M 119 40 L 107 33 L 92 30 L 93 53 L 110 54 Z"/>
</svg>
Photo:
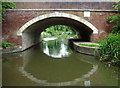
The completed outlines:
<svg viewBox="0 0 120 88">
<path fill-rule="evenodd" d="M 26 76 L 27 78 L 29 78 L 30 80 L 32 80 L 36 83 L 44 84 L 47 86 L 68 86 L 68 85 L 74 85 L 78 82 L 84 81 L 86 78 L 89 78 L 94 72 L 96 72 L 97 69 L 98 69 L 98 65 L 93 65 L 92 70 L 90 72 L 88 72 L 87 74 L 83 75 L 82 77 L 76 78 L 76 79 L 74 79 L 72 81 L 68 81 L 68 82 L 57 82 L 57 83 L 48 83 L 47 80 L 37 79 L 32 74 L 26 72 L 24 70 L 24 67 L 20 67 L 19 71 L 23 74 L 23 76 Z"/>
</svg>

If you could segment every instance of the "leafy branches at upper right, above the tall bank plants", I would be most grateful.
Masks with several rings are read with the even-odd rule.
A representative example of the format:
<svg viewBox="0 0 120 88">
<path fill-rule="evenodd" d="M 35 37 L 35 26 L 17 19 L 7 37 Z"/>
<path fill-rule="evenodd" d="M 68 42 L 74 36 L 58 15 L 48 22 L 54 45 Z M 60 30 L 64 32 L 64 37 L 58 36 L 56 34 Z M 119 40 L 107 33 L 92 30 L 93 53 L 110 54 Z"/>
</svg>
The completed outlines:
<svg viewBox="0 0 120 88">
<path fill-rule="evenodd" d="M 113 5 L 113 7 L 119 12 L 115 15 L 110 15 L 109 18 L 107 18 L 107 21 L 109 24 L 113 24 L 113 33 L 120 33 L 120 0 L 117 2 L 116 5 Z"/>
</svg>

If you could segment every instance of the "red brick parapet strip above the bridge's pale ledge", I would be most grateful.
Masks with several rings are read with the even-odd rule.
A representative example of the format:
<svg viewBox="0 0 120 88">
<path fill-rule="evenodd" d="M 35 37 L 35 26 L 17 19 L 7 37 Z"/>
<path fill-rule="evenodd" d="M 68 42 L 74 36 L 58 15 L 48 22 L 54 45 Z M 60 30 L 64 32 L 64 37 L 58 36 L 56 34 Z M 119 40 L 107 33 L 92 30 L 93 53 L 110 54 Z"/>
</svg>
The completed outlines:
<svg viewBox="0 0 120 88">
<path fill-rule="evenodd" d="M 115 2 L 16 2 L 17 9 L 102 9 L 113 10 Z"/>
</svg>

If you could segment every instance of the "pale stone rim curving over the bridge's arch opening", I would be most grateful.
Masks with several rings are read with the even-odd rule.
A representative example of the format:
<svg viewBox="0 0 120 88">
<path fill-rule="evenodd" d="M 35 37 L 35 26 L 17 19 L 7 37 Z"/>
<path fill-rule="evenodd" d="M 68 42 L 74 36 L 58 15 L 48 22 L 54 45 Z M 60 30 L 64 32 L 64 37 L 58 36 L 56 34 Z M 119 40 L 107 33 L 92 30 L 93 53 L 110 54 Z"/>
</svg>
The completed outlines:
<svg viewBox="0 0 120 88">
<path fill-rule="evenodd" d="M 33 23 L 46 19 L 46 18 L 50 18 L 50 17 L 65 17 L 65 18 L 70 18 L 70 19 L 74 19 L 78 22 L 81 22 L 83 24 L 85 24 L 86 26 L 88 26 L 89 28 L 91 28 L 91 30 L 93 30 L 93 34 L 98 34 L 98 29 L 95 28 L 90 22 L 88 22 L 85 19 L 82 19 L 81 17 L 72 15 L 72 14 L 66 14 L 66 13 L 60 13 L 60 12 L 55 12 L 55 13 L 50 13 L 50 14 L 45 14 L 45 15 L 41 15 L 38 16 L 32 20 L 30 20 L 29 22 L 27 22 L 26 24 L 24 24 L 17 32 L 18 36 L 21 36 L 23 31 L 29 27 L 30 25 L 32 25 Z"/>
</svg>

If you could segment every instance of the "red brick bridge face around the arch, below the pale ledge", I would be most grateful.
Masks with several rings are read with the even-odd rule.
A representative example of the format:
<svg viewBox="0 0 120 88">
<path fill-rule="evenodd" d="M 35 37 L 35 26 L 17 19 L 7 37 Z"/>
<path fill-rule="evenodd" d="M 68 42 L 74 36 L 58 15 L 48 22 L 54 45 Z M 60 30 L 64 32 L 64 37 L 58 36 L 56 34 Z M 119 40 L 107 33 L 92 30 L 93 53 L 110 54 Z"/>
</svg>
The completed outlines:
<svg viewBox="0 0 120 88">
<path fill-rule="evenodd" d="M 4 17 L 5 21 L 2 24 L 3 40 L 16 45 L 21 45 L 21 38 L 16 35 L 19 28 L 37 16 L 52 12 L 54 11 L 7 11 L 6 16 Z M 65 11 L 64 13 L 74 14 L 92 23 L 99 30 L 99 34 L 94 35 L 96 40 L 103 39 L 104 36 L 111 31 L 111 27 L 107 26 L 106 18 L 112 13 L 102 12 L 103 15 L 100 16 L 99 13 L 101 12 L 91 12 L 91 16 L 89 18 L 83 17 L 83 12 Z M 102 31 L 105 31 L 106 33 L 102 33 Z"/>
</svg>

